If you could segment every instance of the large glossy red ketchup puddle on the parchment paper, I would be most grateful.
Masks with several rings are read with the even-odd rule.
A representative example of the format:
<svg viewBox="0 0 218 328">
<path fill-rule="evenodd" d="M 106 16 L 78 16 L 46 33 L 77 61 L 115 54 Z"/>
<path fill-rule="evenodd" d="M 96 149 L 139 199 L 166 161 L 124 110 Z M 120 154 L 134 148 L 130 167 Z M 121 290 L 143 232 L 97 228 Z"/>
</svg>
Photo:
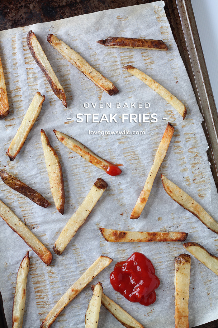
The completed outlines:
<svg viewBox="0 0 218 328">
<path fill-rule="evenodd" d="M 110 274 L 110 283 L 130 302 L 148 306 L 156 301 L 160 280 L 151 261 L 142 253 L 133 253 L 126 262 L 118 262 Z"/>
</svg>

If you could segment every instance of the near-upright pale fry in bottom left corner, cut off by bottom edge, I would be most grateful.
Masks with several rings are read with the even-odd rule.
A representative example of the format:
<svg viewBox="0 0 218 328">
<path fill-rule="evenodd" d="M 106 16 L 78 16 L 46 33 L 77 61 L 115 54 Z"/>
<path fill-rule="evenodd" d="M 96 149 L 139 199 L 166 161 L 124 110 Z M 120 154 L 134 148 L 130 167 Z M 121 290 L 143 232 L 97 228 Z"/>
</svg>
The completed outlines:
<svg viewBox="0 0 218 328">
<path fill-rule="evenodd" d="M 24 256 L 17 272 L 17 282 L 12 309 L 12 328 L 22 328 L 26 301 L 26 282 L 29 272 L 29 252 Z"/>
</svg>

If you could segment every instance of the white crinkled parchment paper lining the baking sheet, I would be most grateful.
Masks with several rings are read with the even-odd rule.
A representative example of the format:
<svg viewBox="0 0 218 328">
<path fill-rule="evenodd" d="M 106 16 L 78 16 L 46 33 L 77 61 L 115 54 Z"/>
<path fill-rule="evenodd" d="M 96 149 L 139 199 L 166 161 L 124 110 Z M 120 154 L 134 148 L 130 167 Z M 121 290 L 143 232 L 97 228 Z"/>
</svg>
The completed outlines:
<svg viewBox="0 0 218 328">
<path fill-rule="evenodd" d="M 202 116 L 163 7 L 164 2 L 159 1 L 0 32 L 0 55 L 10 106 L 8 117 L 0 122 L 1 168 L 25 181 L 52 205 L 47 209 L 41 208 L 3 182 L 0 183 L 2 201 L 52 250 L 65 223 L 88 194 L 96 178 L 102 177 L 109 185 L 63 254 L 57 256 L 52 251 L 53 262 L 50 267 L 46 267 L 34 252 L 30 252 L 24 328 L 39 327 L 63 293 L 102 254 L 112 257 L 113 262 L 93 283 L 101 281 L 105 294 L 145 327 L 174 327 L 174 258 L 186 252 L 182 243 L 108 243 L 101 236 L 99 227 L 188 232 L 187 241 L 199 242 L 211 253 L 218 254 L 216 234 L 177 205 L 161 184 L 162 173 L 218 219 L 218 197 L 206 154 L 208 145 L 201 126 Z M 30 54 L 26 45 L 29 30 L 35 32 L 65 90 L 67 109 L 54 95 Z M 109 96 L 96 87 L 49 45 L 46 41 L 48 33 L 56 34 L 78 51 L 95 69 L 108 77 L 120 92 Z M 116 49 L 96 43 L 99 39 L 120 35 L 162 39 L 169 50 Z M 146 72 L 175 94 L 187 106 L 185 120 L 156 92 L 126 72 L 122 68 L 126 64 Z M 10 162 L 5 153 L 37 91 L 46 96 L 42 111 L 20 154 L 14 162 Z M 100 101 L 104 103 L 103 109 L 99 109 Z M 96 102 L 95 109 L 85 109 L 85 102 Z M 105 109 L 106 102 L 111 102 L 111 109 Z M 147 109 L 116 108 L 116 102 L 122 106 L 125 102 L 128 105 L 142 102 L 143 107 L 144 102 L 151 105 Z M 118 123 L 76 123 L 77 113 L 118 113 Z M 158 122 L 129 123 L 125 120 L 122 123 L 119 118 L 122 113 L 157 113 Z M 167 121 L 175 126 L 169 150 L 142 215 L 137 220 L 130 220 L 130 213 L 143 188 Z M 63 169 L 66 195 L 63 216 L 56 210 L 50 192 L 40 139 L 42 128 L 55 147 Z M 124 164 L 122 174 L 111 177 L 86 162 L 62 145 L 52 132 L 53 129 L 75 137 L 111 162 Z M 89 130 L 145 131 L 145 135 L 101 136 L 91 135 Z M 0 290 L 10 328 L 17 270 L 29 247 L 3 220 L 0 220 L 0 227 Z M 149 307 L 130 303 L 115 292 L 109 282 L 109 274 L 115 263 L 127 259 L 135 251 L 142 252 L 153 262 L 160 279 L 157 300 Z M 217 283 L 218 277 L 192 256 L 190 327 L 217 318 Z M 84 327 L 85 312 L 91 296 L 91 287 L 88 285 L 59 315 L 54 327 Z M 102 307 L 98 327 L 118 326 L 121 327 L 121 324 Z"/>
</svg>

